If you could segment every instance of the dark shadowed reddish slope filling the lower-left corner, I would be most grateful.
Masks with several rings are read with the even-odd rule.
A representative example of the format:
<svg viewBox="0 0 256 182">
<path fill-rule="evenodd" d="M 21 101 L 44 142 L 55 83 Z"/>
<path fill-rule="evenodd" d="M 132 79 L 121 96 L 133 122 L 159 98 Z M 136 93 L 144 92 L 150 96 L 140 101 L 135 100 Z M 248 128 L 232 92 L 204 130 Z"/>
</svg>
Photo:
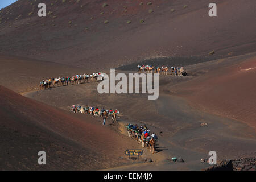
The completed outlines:
<svg viewBox="0 0 256 182">
<path fill-rule="evenodd" d="M 0 86 L 0 169 L 100 169 L 120 165 L 129 141 L 89 117 Z M 96 122 L 96 123 L 95 123 Z M 45 151 L 46 165 L 38 164 Z"/>
</svg>

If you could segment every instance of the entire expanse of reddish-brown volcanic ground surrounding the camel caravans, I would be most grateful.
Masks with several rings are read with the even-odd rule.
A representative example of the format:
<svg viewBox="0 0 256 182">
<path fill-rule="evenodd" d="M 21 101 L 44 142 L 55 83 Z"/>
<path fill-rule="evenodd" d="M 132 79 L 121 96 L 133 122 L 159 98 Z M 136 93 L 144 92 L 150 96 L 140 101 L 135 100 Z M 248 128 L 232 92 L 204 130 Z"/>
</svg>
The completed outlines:
<svg viewBox="0 0 256 182">
<path fill-rule="evenodd" d="M 46 18 L 38 1 L 0 11 L 0 85 L 14 91 L 0 86 L 0 169 L 199 170 L 209 167 L 200 159 L 211 150 L 217 160 L 255 157 L 255 0 L 217 0 L 216 18 L 210 0 L 44 2 Z M 161 75 L 158 100 L 98 94 L 92 82 L 38 91 L 43 79 L 133 73 L 137 64 L 184 66 L 188 76 Z M 121 123 L 103 126 L 102 118 L 71 113 L 73 104 L 118 109 Z M 158 135 L 157 153 L 145 152 L 153 163 L 124 158 L 141 147 L 117 132 L 125 123 Z M 40 150 L 46 166 L 37 163 Z"/>
</svg>

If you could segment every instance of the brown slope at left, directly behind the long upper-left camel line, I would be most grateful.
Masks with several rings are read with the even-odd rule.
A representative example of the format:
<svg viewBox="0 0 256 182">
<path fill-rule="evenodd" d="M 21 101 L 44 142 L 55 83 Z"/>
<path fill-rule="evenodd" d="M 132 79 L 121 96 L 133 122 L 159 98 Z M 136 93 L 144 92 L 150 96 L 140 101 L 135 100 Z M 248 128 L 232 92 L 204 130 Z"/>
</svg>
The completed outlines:
<svg viewBox="0 0 256 182">
<path fill-rule="evenodd" d="M 18 93 L 39 89 L 42 80 L 93 72 L 72 65 L 4 55 L 0 55 L 0 68 L 0 85 Z"/>
</svg>

